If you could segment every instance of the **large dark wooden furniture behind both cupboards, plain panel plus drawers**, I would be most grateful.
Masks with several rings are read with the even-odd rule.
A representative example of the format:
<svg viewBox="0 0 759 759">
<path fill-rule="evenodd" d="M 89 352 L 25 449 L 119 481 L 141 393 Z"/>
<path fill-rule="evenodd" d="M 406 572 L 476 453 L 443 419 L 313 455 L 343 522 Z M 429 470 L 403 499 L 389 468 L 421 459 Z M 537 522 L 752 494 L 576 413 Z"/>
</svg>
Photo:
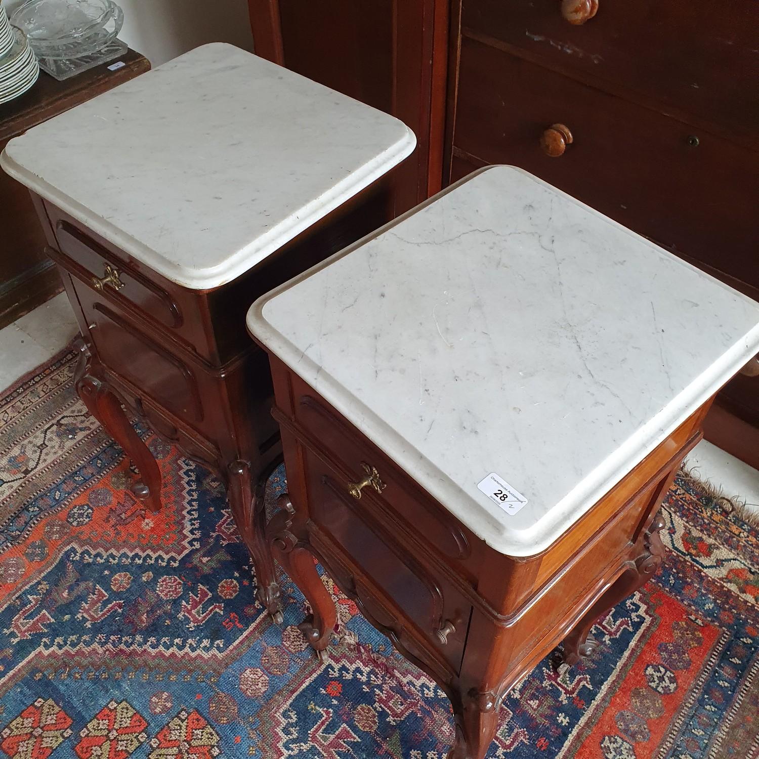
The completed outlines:
<svg viewBox="0 0 759 759">
<path fill-rule="evenodd" d="M 249 5 L 257 51 L 417 134 L 398 213 L 517 165 L 759 300 L 752 0 L 578 3 L 597 5 L 581 24 L 561 0 Z M 571 142 L 547 154 L 554 124 Z M 706 430 L 759 468 L 759 377 L 728 383 Z"/>
</svg>

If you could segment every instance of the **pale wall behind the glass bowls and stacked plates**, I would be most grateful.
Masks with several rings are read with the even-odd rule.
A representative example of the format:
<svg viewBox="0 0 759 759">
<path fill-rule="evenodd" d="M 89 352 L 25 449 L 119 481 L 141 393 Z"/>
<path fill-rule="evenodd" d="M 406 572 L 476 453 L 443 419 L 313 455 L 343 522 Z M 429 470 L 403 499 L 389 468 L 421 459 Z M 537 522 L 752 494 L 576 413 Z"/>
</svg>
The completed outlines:
<svg viewBox="0 0 759 759">
<path fill-rule="evenodd" d="M 5 0 L 10 15 L 23 0 Z M 247 0 L 116 0 L 124 9 L 118 35 L 155 67 L 213 42 L 253 49 Z"/>
</svg>

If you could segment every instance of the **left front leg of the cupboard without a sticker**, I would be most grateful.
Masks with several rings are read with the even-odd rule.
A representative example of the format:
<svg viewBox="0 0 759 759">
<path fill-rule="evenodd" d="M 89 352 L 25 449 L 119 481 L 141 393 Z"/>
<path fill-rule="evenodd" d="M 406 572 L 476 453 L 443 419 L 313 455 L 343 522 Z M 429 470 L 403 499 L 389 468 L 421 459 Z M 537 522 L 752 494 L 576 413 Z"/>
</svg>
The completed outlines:
<svg viewBox="0 0 759 759">
<path fill-rule="evenodd" d="M 83 346 L 74 373 L 77 393 L 87 406 L 87 411 L 118 442 L 140 471 L 141 479 L 131 487 L 132 493 L 145 502 L 151 512 L 157 512 L 161 508 L 161 471 L 153 454 L 129 424 L 118 398 L 109 390 L 100 374 L 90 351 Z"/>
</svg>

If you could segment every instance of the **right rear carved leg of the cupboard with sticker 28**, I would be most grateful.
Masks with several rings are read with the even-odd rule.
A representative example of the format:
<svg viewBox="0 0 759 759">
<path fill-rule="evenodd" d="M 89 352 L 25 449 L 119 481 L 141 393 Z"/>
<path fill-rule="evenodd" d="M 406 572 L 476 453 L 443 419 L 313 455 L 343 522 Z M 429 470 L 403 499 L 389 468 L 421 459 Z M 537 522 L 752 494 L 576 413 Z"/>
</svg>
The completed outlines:
<svg viewBox="0 0 759 759">
<path fill-rule="evenodd" d="M 588 635 L 597 619 L 623 598 L 637 591 L 657 573 L 664 554 L 664 547 L 659 537 L 659 531 L 663 527 L 664 519 L 660 513 L 657 513 L 650 527 L 641 535 L 638 543 L 635 543 L 635 551 L 632 554 L 635 558 L 626 562 L 622 575 L 619 575 L 619 578 L 601 594 L 565 638 L 564 661 L 559 667 L 560 672 L 565 672 L 583 657 L 589 656 L 598 646 L 597 641 Z"/>
</svg>

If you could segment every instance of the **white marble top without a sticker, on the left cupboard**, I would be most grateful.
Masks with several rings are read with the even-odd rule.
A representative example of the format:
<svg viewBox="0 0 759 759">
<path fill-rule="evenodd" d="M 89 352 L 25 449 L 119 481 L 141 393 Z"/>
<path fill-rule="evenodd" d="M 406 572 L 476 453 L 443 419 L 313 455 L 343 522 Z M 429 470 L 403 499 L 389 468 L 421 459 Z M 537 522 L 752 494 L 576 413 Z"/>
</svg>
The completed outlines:
<svg viewBox="0 0 759 759">
<path fill-rule="evenodd" d="M 405 124 L 205 45 L 30 129 L 5 171 L 194 289 L 246 272 L 412 150 Z"/>
</svg>

